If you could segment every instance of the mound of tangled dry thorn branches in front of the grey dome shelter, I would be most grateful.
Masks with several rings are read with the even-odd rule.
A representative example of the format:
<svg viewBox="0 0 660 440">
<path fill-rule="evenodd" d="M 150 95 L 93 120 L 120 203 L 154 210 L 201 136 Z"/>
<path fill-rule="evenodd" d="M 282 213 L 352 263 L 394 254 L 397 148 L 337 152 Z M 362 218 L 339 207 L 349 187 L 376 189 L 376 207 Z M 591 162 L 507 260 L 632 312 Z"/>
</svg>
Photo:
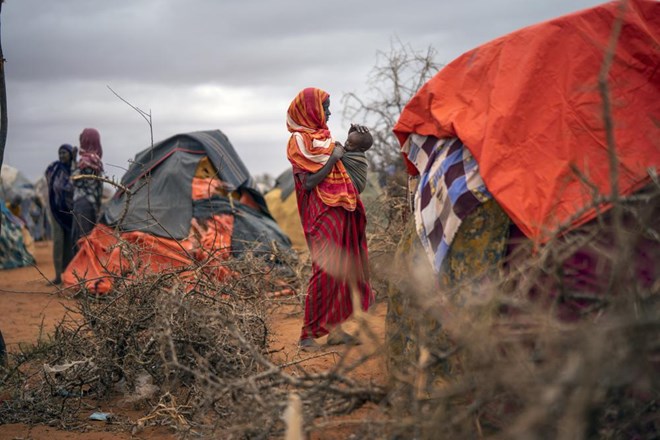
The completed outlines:
<svg viewBox="0 0 660 440">
<path fill-rule="evenodd" d="M 251 271 L 226 283 L 198 280 L 192 290 L 165 272 L 117 283 L 108 297 L 81 292 L 50 340 L 18 356 L 27 371 L 14 370 L 22 384 L 10 403 L 26 406 L 5 407 L 3 420 L 72 423 L 86 401 L 118 390 L 137 402 L 185 389 L 180 400 L 192 405 L 199 371 L 222 380 L 258 371 L 249 353 L 267 347 L 268 286 L 258 261 L 234 264 Z"/>
</svg>

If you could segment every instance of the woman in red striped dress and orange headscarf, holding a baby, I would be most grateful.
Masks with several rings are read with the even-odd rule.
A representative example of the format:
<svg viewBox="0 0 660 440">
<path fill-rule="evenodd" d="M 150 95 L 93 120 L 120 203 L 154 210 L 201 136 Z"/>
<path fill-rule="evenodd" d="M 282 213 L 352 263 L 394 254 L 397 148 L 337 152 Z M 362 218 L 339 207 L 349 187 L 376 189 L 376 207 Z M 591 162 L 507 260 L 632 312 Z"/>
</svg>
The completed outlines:
<svg viewBox="0 0 660 440">
<path fill-rule="evenodd" d="M 330 95 L 306 88 L 291 102 L 287 157 L 293 166 L 298 212 L 312 260 L 300 347 L 355 342 L 341 329 L 353 313 L 351 295 L 367 310 L 374 297 L 369 286 L 367 224 L 364 206 L 340 159 L 344 148 L 327 126 Z M 357 130 L 368 132 L 365 127 Z M 356 301 L 357 302 L 357 301 Z"/>
</svg>

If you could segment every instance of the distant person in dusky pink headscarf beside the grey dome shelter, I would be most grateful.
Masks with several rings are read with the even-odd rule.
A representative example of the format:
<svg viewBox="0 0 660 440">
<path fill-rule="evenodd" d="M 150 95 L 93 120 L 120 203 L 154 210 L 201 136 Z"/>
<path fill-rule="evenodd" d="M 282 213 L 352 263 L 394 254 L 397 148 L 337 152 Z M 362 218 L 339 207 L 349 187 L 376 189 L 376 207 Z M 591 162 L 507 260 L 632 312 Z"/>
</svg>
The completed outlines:
<svg viewBox="0 0 660 440">
<path fill-rule="evenodd" d="M 72 241 L 74 252 L 78 240 L 89 234 L 96 225 L 101 210 L 103 182 L 97 179 L 77 178 L 81 175 L 101 176 L 103 174 L 103 148 L 101 135 L 93 128 L 80 133 L 80 152 L 77 167 L 71 173 L 73 181 L 73 227 Z"/>
</svg>

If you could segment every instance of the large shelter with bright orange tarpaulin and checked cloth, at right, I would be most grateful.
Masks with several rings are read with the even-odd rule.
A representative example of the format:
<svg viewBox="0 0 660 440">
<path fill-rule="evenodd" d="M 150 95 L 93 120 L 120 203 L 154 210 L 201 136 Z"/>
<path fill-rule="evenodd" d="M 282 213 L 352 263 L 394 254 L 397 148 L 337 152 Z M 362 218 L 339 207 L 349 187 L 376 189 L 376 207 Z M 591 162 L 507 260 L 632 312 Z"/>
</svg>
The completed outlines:
<svg viewBox="0 0 660 440">
<path fill-rule="evenodd" d="M 621 32 L 610 48 L 618 24 Z M 660 168 L 659 29 L 660 2 L 649 0 L 559 17 L 463 54 L 406 105 L 394 133 L 409 173 L 419 176 L 416 229 L 446 298 L 454 299 L 458 285 L 462 290 L 455 294 L 462 298 L 456 302 L 469 298 L 516 244 L 566 238 L 597 214 L 605 214 L 601 220 L 608 225 L 610 205 L 598 200 L 612 194 L 610 148 L 618 158 L 619 195 L 651 183 L 652 170 Z M 613 62 L 603 96 L 599 76 L 608 51 Z M 628 262 L 644 288 L 658 276 L 657 206 L 645 225 L 651 232 L 635 242 Z M 558 298 L 560 319 L 579 319 L 607 291 L 607 258 L 616 255 L 616 241 L 603 233 L 590 237 L 572 255 L 562 255 L 561 277 L 531 287 Z M 416 362 L 415 339 L 422 331 L 413 302 L 390 295 L 387 318 L 391 352 L 407 364 Z M 437 322 L 424 325 L 427 334 L 441 328 Z"/>
</svg>

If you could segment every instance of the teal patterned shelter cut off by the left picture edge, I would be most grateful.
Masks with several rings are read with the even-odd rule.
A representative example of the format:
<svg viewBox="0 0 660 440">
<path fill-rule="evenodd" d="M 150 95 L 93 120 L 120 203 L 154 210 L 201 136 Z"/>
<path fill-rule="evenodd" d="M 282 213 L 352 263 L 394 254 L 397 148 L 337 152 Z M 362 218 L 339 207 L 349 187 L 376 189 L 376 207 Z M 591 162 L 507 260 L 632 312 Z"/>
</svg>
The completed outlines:
<svg viewBox="0 0 660 440">
<path fill-rule="evenodd" d="M 2 211 L 0 269 L 15 269 L 34 264 L 34 257 L 28 250 L 31 238 L 23 222 L 9 212 L 2 199 L 0 199 L 0 211 Z"/>
</svg>

